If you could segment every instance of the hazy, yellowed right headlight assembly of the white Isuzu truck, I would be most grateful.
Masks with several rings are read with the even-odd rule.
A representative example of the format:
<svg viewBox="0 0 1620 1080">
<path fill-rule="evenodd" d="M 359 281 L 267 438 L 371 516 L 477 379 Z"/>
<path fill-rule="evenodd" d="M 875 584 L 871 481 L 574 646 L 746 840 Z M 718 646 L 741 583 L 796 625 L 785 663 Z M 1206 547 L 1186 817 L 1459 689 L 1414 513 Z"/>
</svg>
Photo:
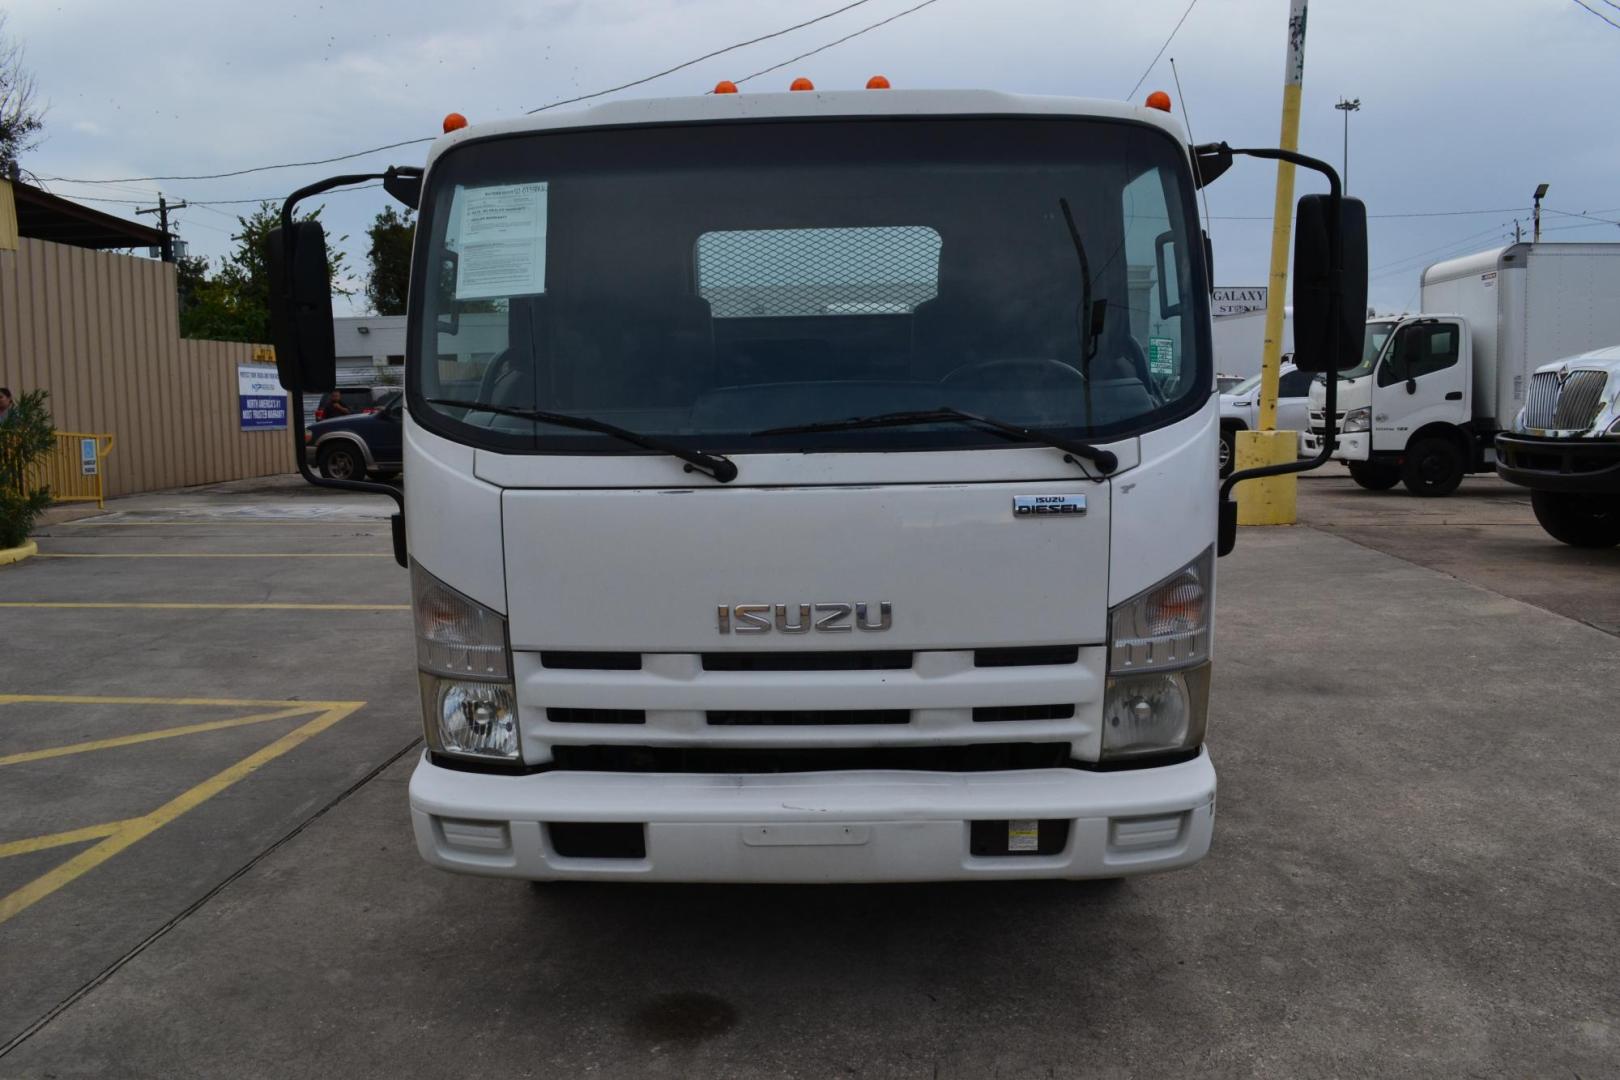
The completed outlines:
<svg viewBox="0 0 1620 1080">
<path fill-rule="evenodd" d="M 1192 750 L 1210 685 L 1215 551 L 1108 612 L 1103 758 Z"/>
</svg>

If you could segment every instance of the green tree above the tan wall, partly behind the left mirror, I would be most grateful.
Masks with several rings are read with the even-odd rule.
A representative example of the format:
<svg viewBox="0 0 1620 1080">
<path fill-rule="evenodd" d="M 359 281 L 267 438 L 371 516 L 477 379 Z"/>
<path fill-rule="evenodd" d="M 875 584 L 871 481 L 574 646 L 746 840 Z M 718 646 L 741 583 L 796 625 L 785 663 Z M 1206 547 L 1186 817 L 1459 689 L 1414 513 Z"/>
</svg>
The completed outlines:
<svg viewBox="0 0 1620 1080">
<path fill-rule="evenodd" d="M 298 217 L 301 222 L 318 220 L 321 209 Z M 261 202 L 248 217 L 238 217 L 237 246 L 220 259 L 219 269 L 209 275 L 207 262 L 181 261 L 177 266 L 180 279 L 180 335 L 206 337 L 219 342 L 269 342 L 271 340 L 271 275 L 264 251 L 271 230 L 280 225 L 282 212 L 274 202 Z M 347 285 L 348 266 L 335 244 L 348 236 L 326 241 L 326 257 L 332 277 L 332 293 L 352 296 Z"/>
</svg>

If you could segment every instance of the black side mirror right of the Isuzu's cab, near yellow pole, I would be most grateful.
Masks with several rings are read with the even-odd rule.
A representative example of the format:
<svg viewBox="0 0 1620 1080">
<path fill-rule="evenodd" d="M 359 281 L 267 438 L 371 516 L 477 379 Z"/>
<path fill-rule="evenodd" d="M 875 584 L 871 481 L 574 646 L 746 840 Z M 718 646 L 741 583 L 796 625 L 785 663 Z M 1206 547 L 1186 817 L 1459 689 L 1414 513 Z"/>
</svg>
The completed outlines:
<svg viewBox="0 0 1620 1080">
<path fill-rule="evenodd" d="M 1325 194 L 1299 199 L 1294 220 L 1294 366 L 1349 371 L 1361 363 L 1367 334 L 1367 207 L 1361 199 Z M 1343 272 L 1333 267 L 1333 240 Z"/>
</svg>

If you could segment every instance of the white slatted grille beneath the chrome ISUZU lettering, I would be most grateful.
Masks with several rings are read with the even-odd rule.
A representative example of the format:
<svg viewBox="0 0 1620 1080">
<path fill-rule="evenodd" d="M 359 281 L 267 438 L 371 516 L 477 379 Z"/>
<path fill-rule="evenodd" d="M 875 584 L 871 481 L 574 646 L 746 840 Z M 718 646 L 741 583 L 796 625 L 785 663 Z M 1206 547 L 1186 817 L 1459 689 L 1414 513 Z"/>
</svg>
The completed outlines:
<svg viewBox="0 0 1620 1080">
<path fill-rule="evenodd" d="M 556 769 L 970 772 L 1061 766 L 1076 743 L 1095 746 L 1105 653 L 548 651 L 514 664 L 525 756 Z"/>
</svg>

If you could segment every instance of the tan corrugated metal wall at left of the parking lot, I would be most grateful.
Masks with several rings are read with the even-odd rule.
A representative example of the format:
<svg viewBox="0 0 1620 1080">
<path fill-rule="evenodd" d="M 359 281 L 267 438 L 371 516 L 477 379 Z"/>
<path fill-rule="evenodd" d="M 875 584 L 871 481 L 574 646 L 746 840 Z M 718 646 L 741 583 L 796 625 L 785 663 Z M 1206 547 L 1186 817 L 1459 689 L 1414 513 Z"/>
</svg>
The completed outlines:
<svg viewBox="0 0 1620 1080">
<path fill-rule="evenodd" d="M 285 429 L 238 429 L 251 359 L 180 338 L 172 266 L 44 240 L 0 251 L 0 385 L 50 390 L 58 431 L 110 432 L 109 494 L 290 473 Z"/>
</svg>

